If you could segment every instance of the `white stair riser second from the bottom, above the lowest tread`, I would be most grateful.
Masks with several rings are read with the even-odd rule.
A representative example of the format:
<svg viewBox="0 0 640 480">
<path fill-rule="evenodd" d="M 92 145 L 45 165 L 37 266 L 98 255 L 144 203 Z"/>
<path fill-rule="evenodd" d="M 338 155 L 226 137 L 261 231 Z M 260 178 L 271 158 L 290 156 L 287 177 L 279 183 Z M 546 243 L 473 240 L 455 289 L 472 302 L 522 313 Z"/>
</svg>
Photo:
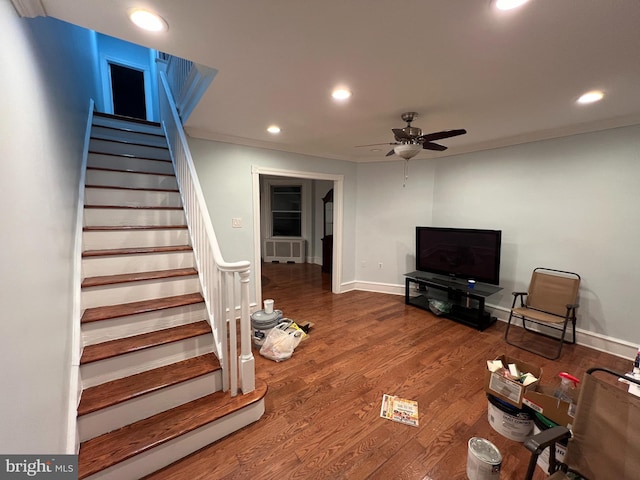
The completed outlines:
<svg viewBox="0 0 640 480">
<path fill-rule="evenodd" d="M 80 441 L 84 442 L 221 389 L 222 374 L 218 370 L 109 408 L 82 415 L 78 417 Z"/>
</svg>

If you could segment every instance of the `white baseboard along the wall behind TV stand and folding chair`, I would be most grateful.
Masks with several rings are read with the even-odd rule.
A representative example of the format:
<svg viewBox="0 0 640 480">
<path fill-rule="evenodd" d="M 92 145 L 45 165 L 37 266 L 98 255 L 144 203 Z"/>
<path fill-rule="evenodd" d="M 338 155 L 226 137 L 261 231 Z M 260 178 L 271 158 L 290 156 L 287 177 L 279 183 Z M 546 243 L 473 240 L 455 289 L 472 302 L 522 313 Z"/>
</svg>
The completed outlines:
<svg viewBox="0 0 640 480">
<path fill-rule="evenodd" d="M 365 292 L 386 293 L 391 295 L 404 295 L 404 285 L 393 285 L 389 283 L 377 282 L 348 282 L 341 285 L 341 292 L 349 292 L 351 290 L 362 290 Z M 509 308 L 499 305 L 487 304 L 486 309 L 501 322 L 509 320 Z M 576 343 L 600 352 L 609 353 L 616 357 L 625 358 L 630 361 L 636 357 L 638 346 L 621 340 L 619 338 L 602 335 L 596 332 L 590 332 L 581 328 L 576 328 Z M 629 365 L 631 368 L 631 364 Z"/>
</svg>

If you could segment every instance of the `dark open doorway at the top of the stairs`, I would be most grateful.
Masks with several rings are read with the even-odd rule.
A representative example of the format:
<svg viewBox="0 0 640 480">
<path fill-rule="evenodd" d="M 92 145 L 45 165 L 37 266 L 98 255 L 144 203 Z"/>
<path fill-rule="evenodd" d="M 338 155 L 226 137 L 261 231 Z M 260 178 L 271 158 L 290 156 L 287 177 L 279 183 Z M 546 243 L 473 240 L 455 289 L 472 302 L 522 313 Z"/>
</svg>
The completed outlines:
<svg viewBox="0 0 640 480">
<path fill-rule="evenodd" d="M 113 113 L 147 120 L 144 71 L 109 63 Z"/>
</svg>

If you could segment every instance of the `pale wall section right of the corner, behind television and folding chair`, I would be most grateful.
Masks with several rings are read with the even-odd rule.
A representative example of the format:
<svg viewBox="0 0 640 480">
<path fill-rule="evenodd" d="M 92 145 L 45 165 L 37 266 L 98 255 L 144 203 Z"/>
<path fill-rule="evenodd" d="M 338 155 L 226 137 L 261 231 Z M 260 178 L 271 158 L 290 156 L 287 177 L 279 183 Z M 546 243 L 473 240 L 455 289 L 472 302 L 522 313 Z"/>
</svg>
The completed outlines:
<svg viewBox="0 0 640 480">
<path fill-rule="evenodd" d="M 510 307 L 538 266 L 582 276 L 578 327 L 640 345 L 640 125 L 438 160 L 436 226 L 503 231 Z"/>
</svg>

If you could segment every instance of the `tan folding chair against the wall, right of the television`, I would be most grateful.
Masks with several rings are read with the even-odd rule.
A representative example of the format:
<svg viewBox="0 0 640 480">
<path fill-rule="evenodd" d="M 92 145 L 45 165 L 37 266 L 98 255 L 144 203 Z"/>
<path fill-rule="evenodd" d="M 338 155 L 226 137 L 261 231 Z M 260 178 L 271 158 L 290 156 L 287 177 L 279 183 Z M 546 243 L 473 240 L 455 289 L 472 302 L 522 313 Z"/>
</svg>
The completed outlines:
<svg viewBox="0 0 640 480">
<path fill-rule="evenodd" d="M 576 342 L 576 309 L 578 308 L 578 290 L 580 275 L 564 270 L 537 267 L 531 274 L 531 282 L 527 292 L 513 292 L 513 303 L 509 322 L 504 333 L 505 341 L 509 345 L 527 350 L 545 358 L 555 360 L 560 357 L 562 345 Z M 516 306 L 520 299 L 520 305 Z M 514 318 L 522 320 L 522 328 L 544 337 L 557 340 L 558 348 L 555 355 L 548 355 L 543 350 L 528 346 L 523 342 L 509 340 L 511 322 Z M 527 322 L 560 332 L 560 336 L 547 333 L 545 330 L 527 327 Z M 567 327 L 571 323 L 571 340 L 566 340 Z"/>
</svg>

